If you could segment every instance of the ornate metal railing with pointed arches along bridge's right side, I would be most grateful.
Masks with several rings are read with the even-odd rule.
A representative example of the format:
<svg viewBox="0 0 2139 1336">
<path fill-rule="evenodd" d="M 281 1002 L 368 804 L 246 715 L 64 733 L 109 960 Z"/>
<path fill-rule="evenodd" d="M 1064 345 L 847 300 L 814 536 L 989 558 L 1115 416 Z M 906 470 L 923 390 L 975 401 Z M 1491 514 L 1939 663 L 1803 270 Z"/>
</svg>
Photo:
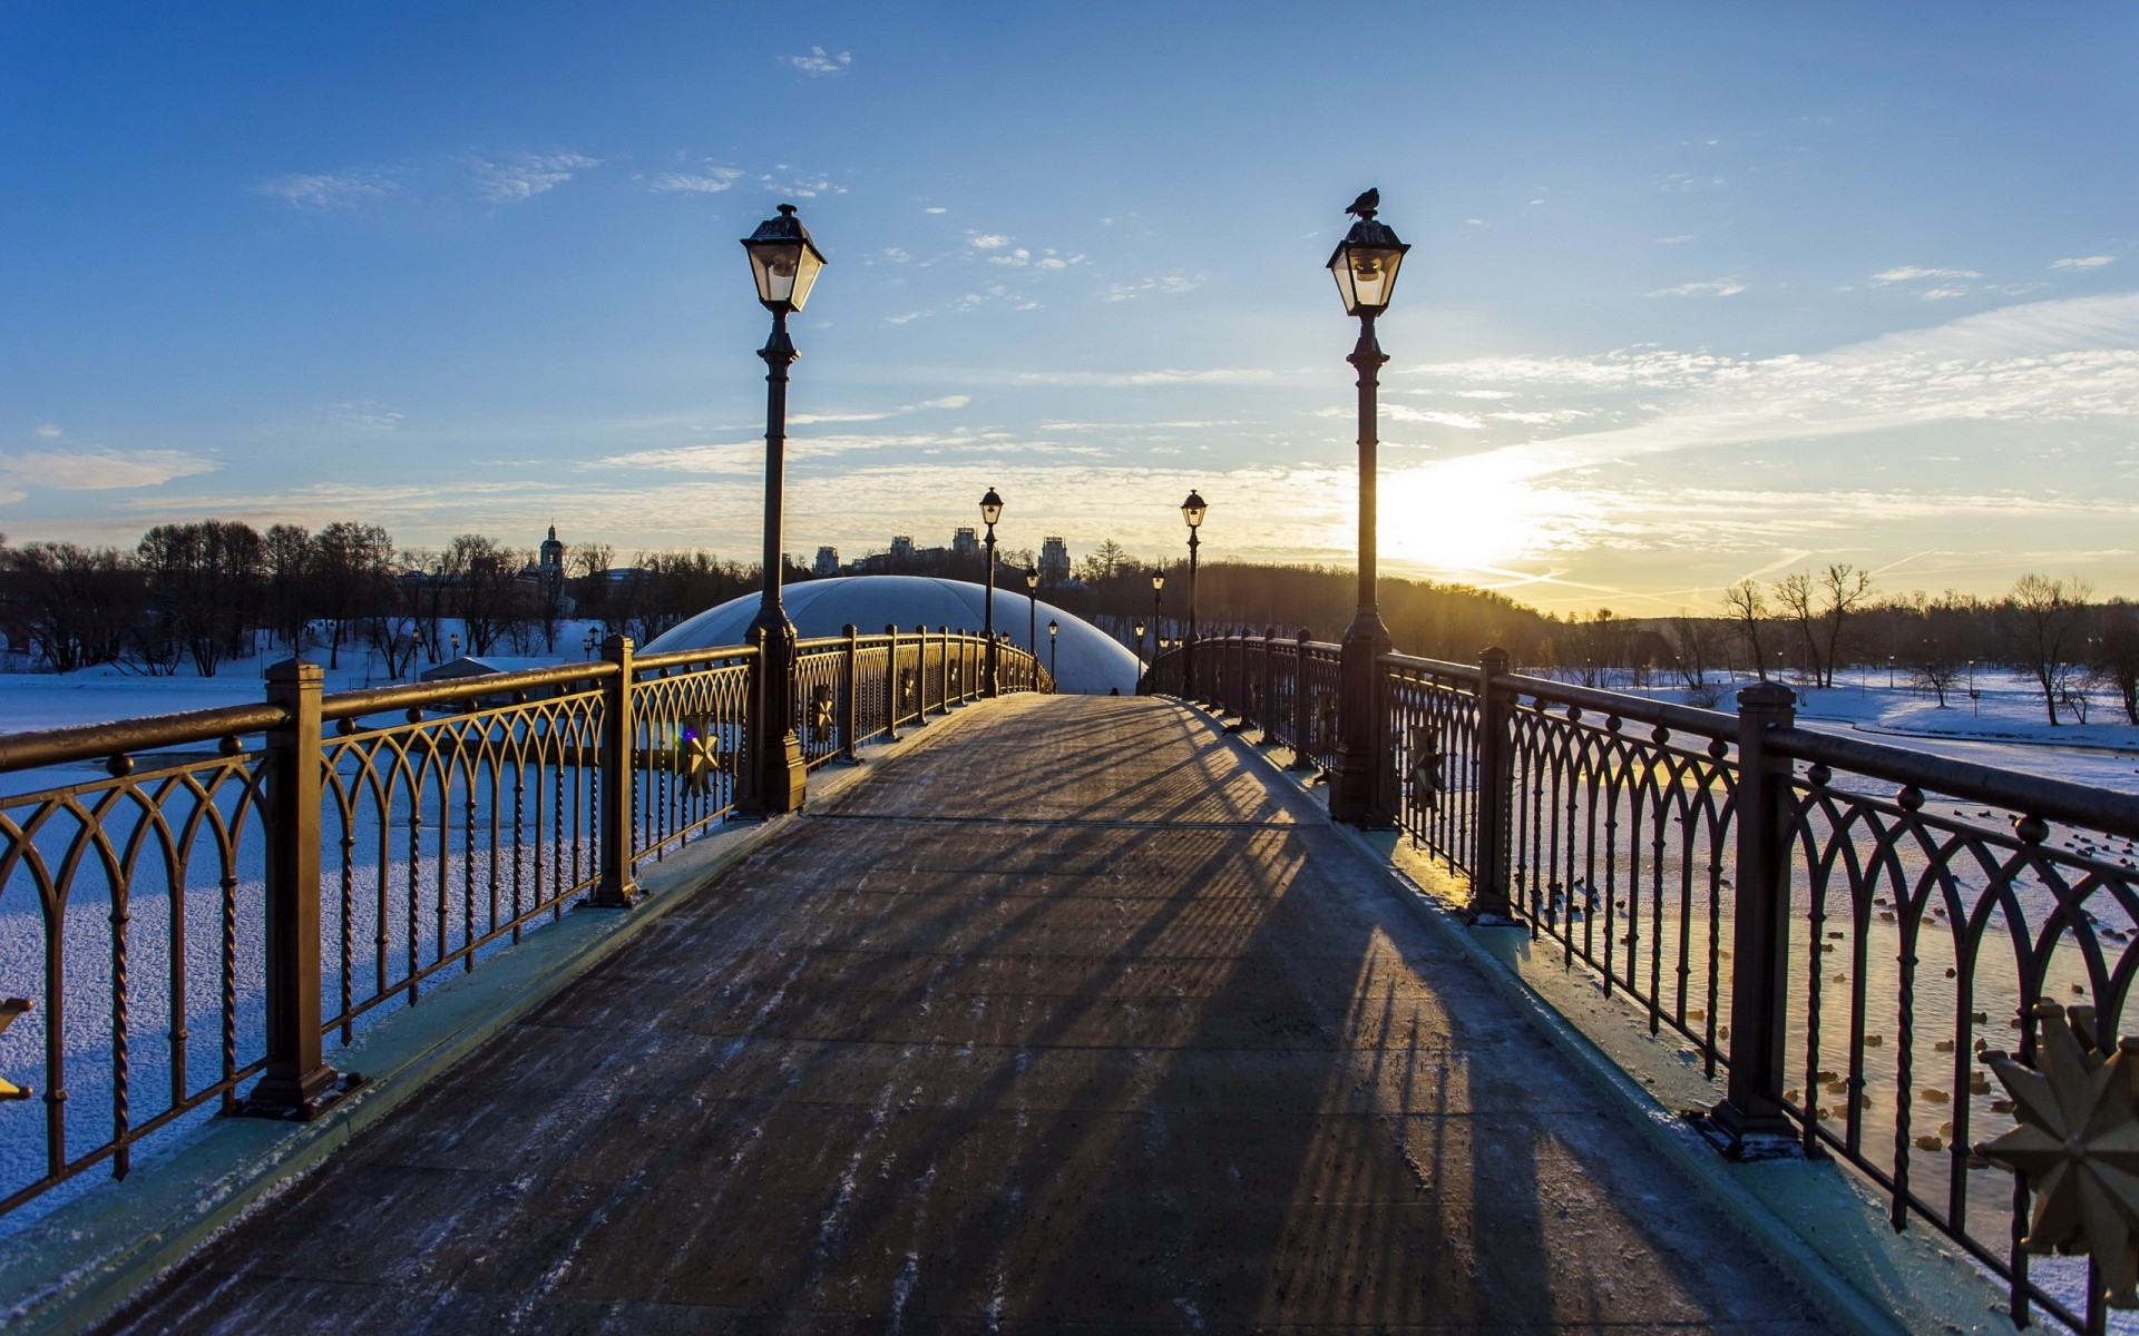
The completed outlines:
<svg viewBox="0 0 2139 1336">
<path fill-rule="evenodd" d="M 1194 693 L 1181 658 L 1147 690 L 1335 767 L 1335 727 L 1298 708 L 1318 673 L 1335 695 L 1335 646 L 1202 641 Z M 1724 1082 L 1701 1122 L 1726 1152 L 1840 1156 L 1897 1229 L 1927 1221 L 2002 1276 L 2015 1319 L 2096 1330 L 2086 1263 L 2030 1259 L 2026 1189 L 1972 1150 L 2015 1127 L 1979 1056 L 2032 1062 L 2038 1003 L 2115 1052 L 2139 797 L 1799 729 L 1775 684 L 1720 714 L 1510 673 L 1495 650 L 1380 667 L 1378 808 L 1469 876 L 1480 919 L 1690 1045 Z"/>
</svg>

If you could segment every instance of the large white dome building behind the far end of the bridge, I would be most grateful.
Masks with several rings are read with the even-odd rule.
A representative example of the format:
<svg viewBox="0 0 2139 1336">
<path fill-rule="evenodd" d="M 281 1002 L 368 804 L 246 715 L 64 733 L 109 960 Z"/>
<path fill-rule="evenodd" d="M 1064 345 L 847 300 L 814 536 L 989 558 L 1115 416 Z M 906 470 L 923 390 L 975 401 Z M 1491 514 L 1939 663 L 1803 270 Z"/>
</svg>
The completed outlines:
<svg viewBox="0 0 2139 1336">
<path fill-rule="evenodd" d="M 787 609 L 787 620 L 796 624 L 802 639 L 841 635 L 849 624 L 858 626 L 862 635 L 883 635 L 886 626 L 898 626 L 903 633 L 911 633 L 915 626 L 928 626 L 928 631 L 950 626 L 980 635 L 986 622 L 984 601 L 986 590 L 978 584 L 926 575 L 838 575 L 834 579 L 804 579 L 781 590 L 781 607 Z M 757 616 L 757 594 L 744 594 L 708 607 L 689 622 L 663 631 L 640 652 L 740 646 Z M 1027 616 L 1025 590 L 995 590 L 995 628 L 1018 648 L 1027 648 Z M 1055 641 L 1057 690 L 1070 695 L 1136 693 L 1142 665 L 1112 635 L 1046 599 L 1031 611 L 1031 618 L 1040 631 L 1042 665 L 1048 663 L 1048 620 L 1061 624 L 1061 635 Z"/>
</svg>

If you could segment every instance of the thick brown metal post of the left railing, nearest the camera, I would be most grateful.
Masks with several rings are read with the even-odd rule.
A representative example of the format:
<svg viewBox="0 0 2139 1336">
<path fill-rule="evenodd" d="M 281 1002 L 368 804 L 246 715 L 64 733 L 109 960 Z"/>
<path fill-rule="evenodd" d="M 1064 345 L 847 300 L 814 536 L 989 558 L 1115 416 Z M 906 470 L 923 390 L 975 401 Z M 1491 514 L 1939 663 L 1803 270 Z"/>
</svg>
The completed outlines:
<svg viewBox="0 0 2139 1336">
<path fill-rule="evenodd" d="M 325 669 L 284 658 L 267 669 L 267 701 L 289 723 L 267 731 L 267 1071 L 237 1105 L 252 1118 L 312 1120 L 342 1097 L 319 1030 L 319 701 Z"/>
</svg>

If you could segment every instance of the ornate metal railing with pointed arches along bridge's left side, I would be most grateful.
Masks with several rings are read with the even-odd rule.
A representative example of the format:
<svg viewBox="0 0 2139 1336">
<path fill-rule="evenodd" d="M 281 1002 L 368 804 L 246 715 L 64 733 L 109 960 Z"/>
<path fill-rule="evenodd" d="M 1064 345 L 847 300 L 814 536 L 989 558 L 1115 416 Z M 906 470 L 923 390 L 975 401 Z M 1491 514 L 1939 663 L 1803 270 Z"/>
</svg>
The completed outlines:
<svg viewBox="0 0 2139 1336">
<path fill-rule="evenodd" d="M 809 765 L 978 699 L 984 663 L 948 628 L 802 641 Z M 573 900 L 629 906 L 749 808 L 757 667 L 612 639 L 327 697 L 289 663 L 259 705 L 0 735 L 0 1214 L 188 1116 L 308 1116 L 323 1045 Z M 1010 646 L 999 675 L 1052 688 Z"/>
</svg>

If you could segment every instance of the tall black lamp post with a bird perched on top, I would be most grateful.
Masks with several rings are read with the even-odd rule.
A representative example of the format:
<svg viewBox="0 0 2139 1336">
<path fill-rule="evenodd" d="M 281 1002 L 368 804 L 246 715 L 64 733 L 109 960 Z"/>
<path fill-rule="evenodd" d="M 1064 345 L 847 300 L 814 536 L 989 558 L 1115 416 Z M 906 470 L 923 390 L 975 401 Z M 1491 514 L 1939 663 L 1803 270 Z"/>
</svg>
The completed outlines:
<svg viewBox="0 0 2139 1336">
<path fill-rule="evenodd" d="M 1397 286 L 1397 269 L 1410 250 L 1386 222 L 1375 222 L 1380 190 L 1360 195 L 1348 214 L 1358 222 L 1330 252 L 1328 271 L 1337 280 L 1348 316 L 1358 316 L 1358 342 L 1345 361 L 1358 372 L 1358 607 L 1343 633 L 1337 693 L 1337 774 L 1330 776 L 1330 817 L 1356 825 L 1388 825 L 1395 821 L 1384 784 L 1375 782 L 1375 665 L 1390 650 L 1388 626 L 1375 607 L 1375 436 L 1382 387 L 1382 344 L 1373 338 L 1373 321 L 1388 310 Z"/>
</svg>

